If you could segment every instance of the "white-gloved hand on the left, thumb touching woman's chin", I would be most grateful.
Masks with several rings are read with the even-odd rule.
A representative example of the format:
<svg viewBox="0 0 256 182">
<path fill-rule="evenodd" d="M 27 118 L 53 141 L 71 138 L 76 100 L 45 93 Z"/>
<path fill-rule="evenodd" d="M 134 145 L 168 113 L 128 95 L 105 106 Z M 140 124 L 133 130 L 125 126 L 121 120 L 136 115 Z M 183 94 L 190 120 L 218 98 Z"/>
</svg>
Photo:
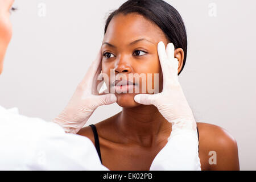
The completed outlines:
<svg viewBox="0 0 256 182">
<path fill-rule="evenodd" d="M 99 51 L 96 60 L 90 65 L 68 105 L 53 119 L 53 122 L 63 127 L 66 133 L 76 134 L 98 106 L 117 102 L 115 94 L 99 95 L 97 92 L 97 78 L 101 72 L 101 60 L 102 55 Z"/>
</svg>

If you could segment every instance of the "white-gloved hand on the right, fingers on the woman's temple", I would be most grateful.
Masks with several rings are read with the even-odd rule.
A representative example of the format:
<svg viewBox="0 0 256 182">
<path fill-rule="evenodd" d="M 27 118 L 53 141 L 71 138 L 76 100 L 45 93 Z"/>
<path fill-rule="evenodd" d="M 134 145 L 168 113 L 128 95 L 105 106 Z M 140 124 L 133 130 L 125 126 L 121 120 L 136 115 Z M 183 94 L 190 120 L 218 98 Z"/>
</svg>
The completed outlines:
<svg viewBox="0 0 256 182">
<path fill-rule="evenodd" d="M 137 94 L 134 100 L 143 105 L 155 105 L 163 117 L 172 123 L 172 133 L 177 128 L 196 131 L 195 118 L 178 80 L 179 61 L 174 57 L 174 51 L 174 44 L 169 43 L 165 48 L 163 42 L 158 43 L 163 91 L 157 94 Z"/>
</svg>

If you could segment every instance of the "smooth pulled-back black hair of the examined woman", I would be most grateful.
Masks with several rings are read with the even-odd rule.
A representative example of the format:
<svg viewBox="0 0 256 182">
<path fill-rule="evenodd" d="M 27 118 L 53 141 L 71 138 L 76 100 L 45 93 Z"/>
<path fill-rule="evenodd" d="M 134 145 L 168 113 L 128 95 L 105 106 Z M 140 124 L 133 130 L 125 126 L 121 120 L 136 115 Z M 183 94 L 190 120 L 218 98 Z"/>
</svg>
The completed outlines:
<svg viewBox="0 0 256 182">
<path fill-rule="evenodd" d="M 187 34 L 183 19 L 174 7 L 162 0 L 126 1 L 119 7 L 119 9 L 110 13 L 108 19 L 106 19 L 104 35 L 106 34 L 110 20 L 120 13 L 124 15 L 129 13 L 138 13 L 143 15 L 144 18 L 155 23 L 164 32 L 167 40 L 174 44 L 175 49 L 183 49 L 184 61 L 181 71 L 183 70 L 187 58 Z"/>
</svg>

